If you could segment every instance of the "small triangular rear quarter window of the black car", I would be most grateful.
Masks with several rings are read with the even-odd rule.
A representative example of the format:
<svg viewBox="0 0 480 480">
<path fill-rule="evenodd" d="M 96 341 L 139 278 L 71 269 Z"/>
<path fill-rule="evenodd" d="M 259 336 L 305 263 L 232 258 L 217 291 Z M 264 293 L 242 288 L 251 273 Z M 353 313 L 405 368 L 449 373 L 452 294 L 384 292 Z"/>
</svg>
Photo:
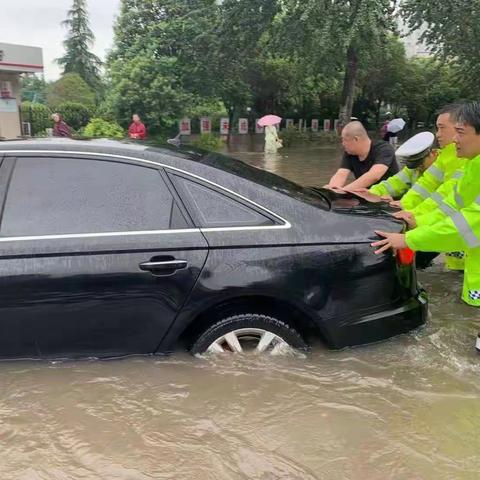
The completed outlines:
<svg viewBox="0 0 480 480">
<path fill-rule="evenodd" d="M 175 184 L 199 227 L 241 227 L 274 225 L 258 210 L 202 183 L 174 175 Z"/>
</svg>

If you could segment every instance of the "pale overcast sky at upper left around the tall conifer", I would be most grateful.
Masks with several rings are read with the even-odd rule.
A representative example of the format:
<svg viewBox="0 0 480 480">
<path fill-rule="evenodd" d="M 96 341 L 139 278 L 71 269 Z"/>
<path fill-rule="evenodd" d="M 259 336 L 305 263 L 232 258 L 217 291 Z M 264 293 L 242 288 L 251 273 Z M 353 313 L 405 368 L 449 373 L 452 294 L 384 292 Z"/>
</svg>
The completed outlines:
<svg viewBox="0 0 480 480">
<path fill-rule="evenodd" d="M 72 0 L 0 0 L 0 42 L 42 47 L 45 77 L 60 75 L 54 59 L 63 54 L 66 30 L 60 25 Z M 90 28 L 95 35 L 93 52 L 102 60 L 112 46 L 113 23 L 120 0 L 88 0 Z"/>
</svg>

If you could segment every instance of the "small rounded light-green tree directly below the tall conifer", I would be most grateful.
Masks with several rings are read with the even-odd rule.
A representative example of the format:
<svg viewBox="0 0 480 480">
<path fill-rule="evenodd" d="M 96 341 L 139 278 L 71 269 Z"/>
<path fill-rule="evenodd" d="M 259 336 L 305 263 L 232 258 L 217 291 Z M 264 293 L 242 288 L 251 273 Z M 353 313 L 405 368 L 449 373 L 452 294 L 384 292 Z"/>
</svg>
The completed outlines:
<svg viewBox="0 0 480 480">
<path fill-rule="evenodd" d="M 80 75 L 67 73 L 50 85 L 47 94 L 47 103 L 54 109 L 64 102 L 81 103 L 91 107 L 95 104 L 95 93 Z"/>
</svg>

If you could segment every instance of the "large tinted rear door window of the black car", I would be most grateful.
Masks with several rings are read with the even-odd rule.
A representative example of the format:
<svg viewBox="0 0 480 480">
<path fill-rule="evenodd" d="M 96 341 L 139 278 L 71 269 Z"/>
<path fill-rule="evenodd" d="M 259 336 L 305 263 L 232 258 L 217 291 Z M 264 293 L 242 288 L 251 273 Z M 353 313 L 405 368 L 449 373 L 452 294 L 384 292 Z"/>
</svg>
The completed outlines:
<svg viewBox="0 0 480 480">
<path fill-rule="evenodd" d="M 19 158 L 0 235 L 130 232 L 186 228 L 160 173 L 120 162 Z"/>
</svg>

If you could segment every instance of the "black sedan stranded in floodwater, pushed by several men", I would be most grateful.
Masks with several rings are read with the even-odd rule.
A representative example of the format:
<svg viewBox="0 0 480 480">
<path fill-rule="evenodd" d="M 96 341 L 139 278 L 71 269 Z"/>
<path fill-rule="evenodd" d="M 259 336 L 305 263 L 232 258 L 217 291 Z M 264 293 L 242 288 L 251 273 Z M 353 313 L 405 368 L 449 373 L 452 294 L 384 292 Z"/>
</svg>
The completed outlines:
<svg viewBox="0 0 480 480">
<path fill-rule="evenodd" d="M 421 325 L 381 206 L 217 154 L 0 143 L 0 357 L 333 348 Z"/>
</svg>

